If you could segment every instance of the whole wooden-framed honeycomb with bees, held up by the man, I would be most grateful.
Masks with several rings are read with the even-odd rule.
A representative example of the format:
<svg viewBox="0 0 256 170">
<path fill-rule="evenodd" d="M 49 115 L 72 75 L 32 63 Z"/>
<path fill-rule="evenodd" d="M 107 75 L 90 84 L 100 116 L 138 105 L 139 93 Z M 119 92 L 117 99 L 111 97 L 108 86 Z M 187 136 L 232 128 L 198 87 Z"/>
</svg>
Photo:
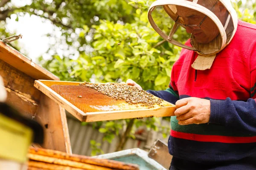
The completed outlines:
<svg viewBox="0 0 256 170">
<path fill-rule="evenodd" d="M 82 122 L 174 115 L 175 105 L 148 94 L 145 91 L 138 92 L 138 97 L 133 97 L 130 100 L 118 98 L 118 96 L 120 96 L 119 93 L 127 95 L 128 89 L 131 93 L 137 90 L 130 89 L 129 87 L 131 86 L 127 89 L 128 85 L 126 84 L 81 84 L 81 82 L 35 80 L 34 86 Z M 123 89 L 121 87 L 122 85 L 124 86 Z M 103 93 L 107 92 L 111 93 L 111 95 L 103 94 L 101 89 L 95 88 L 98 86 L 106 87 L 107 91 Z M 116 86 L 121 87 L 119 92 L 111 92 L 111 89 Z M 125 97 L 129 98 L 128 96 Z M 149 100 L 147 101 L 145 98 Z M 136 103 L 138 99 L 140 99 L 142 103 Z"/>
</svg>

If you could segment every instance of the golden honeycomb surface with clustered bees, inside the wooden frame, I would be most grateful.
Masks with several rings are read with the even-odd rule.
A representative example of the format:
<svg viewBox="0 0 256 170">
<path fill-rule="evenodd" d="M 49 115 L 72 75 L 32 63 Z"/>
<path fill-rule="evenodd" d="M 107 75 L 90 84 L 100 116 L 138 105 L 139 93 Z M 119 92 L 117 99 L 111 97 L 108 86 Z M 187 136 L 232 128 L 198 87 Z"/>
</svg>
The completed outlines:
<svg viewBox="0 0 256 170">
<path fill-rule="evenodd" d="M 50 88 L 85 113 L 171 105 L 145 91 L 119 83 L 52 85 Z"/>
</svg>

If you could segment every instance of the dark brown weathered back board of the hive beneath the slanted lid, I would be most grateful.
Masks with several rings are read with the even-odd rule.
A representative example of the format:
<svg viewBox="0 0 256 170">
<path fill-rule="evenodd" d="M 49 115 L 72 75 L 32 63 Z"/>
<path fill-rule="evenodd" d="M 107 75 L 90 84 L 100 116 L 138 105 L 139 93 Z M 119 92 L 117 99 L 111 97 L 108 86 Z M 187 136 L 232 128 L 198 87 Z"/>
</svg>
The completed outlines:
<svg viewBox="0 0 256 170">
<path fill-rule="evenodd" d="M 0 59 L 0 76 L 7 91 L 6 102 L 21 113 L 34 116 L 41 91 L 33 86 L 35 79 Z"/>
</svg>

